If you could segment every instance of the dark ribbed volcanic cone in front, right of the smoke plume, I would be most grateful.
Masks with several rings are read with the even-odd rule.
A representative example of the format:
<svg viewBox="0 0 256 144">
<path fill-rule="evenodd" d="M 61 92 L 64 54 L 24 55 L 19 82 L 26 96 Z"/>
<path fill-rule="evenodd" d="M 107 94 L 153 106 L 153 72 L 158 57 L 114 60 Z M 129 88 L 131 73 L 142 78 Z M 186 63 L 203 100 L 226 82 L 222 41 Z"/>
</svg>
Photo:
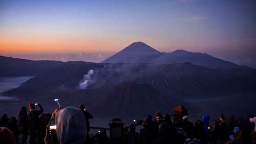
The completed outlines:
<svg viewBox="0 0 256 144">
<path fill-rule="evenodd" d="M 101 117 L 141 118 L 156 110 L 166 111 L 177 105 L 175 98 L 167 97 L 145 83 L 122 83 L 92 106 Z"/>
</svg>

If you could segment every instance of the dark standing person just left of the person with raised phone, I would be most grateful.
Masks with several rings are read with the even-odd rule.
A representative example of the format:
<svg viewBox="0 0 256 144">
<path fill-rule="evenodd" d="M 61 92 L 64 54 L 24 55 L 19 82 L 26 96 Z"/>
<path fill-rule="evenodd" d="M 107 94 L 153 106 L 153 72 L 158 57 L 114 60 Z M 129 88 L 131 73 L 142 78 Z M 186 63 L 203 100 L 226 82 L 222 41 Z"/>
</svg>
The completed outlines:
<svg viewBox="0 0 256 144">
<path fill-rule="evenodd" d="M 22 138 L 23 144 L 27 144 L 28 133 L 29 133 L 28 132 L 29 119 L 28 119 L 26 107 L 22 107 L 22 109 L 18 112 L 17 126 L 18 126 L 19 131 L 23 135 L 23 138 Z"/>
</svg>

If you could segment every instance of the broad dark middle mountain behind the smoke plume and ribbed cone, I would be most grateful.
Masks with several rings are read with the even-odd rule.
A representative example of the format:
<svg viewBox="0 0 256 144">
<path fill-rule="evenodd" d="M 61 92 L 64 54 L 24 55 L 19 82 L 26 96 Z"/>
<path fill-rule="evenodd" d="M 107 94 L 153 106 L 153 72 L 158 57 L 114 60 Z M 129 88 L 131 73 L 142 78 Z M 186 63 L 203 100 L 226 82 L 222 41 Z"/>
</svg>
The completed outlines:
<svg viewBox="0 0 256 144">
<path fill-rule="evenodd" d="M 88 88 L 105 91 L 124 82 L 146 83 L 166 95 L 177 97 L 214 97 L 252 92 L 256 89 L 255 76 L 240 76 L 187 62 L 161 65 L 73 62 L 50 69 L 5 94 L 43 97 L 62 85 L 65 88 L 77 89 L 83 75 L 90 69 L 94 69 L 95 73 Z"/>
</svg>

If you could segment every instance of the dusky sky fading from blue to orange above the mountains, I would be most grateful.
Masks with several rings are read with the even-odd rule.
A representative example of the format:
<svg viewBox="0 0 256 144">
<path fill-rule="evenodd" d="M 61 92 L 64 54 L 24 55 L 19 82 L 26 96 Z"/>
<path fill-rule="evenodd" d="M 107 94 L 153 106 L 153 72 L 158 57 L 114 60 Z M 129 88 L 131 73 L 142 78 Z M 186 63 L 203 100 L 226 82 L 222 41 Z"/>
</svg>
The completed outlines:
<svg viewBox="0 0 256 144">
<path fill-rule="evenodd" d="M 100 62 L 133 42 L 256 67 L 256 1 L 0 1 L 0 55 Z"/>
</svg>

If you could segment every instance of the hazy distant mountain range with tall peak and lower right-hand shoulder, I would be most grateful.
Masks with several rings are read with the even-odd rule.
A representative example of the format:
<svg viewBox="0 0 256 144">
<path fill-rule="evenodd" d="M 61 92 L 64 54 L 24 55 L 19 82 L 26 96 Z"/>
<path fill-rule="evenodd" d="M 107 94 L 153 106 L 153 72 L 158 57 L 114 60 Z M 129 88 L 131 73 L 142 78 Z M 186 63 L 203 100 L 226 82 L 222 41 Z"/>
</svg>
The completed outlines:
<svg viewBox="0 0 256 144">
<path fill-rule="evenodd" d="M 143 42 L 139 42 L 140 44 L 146 45 Z M 155 50 L 153 47 L 145 46 L 144 49 L 148 49 L 148 51 L 154 49 L 155 52 L 150 54 L 142 54 L 141 51 L 138 51 L 140 44 L 132 43 L 131 45 L 125 47 L 120 52 L 114 54 L 110 58 L 102 61 L 101 63 L 156 63 L 156 64 L 165 64 L 165 63 L 181 63 L 181 62 L 190 62 L 195 65 L 201 65 L 209 68 L 222 68 L 222 69 L 230 69 L 230 68 L 240 68 L 240 69 L 253 69 L 248 66 L 241 66 L 229 61 L 225 61 L 206 53 L 193 53 L 188 52 L 186 50 L 176 50 L 174 52 L 165 53 L 159 52 Z M 137 47 L 136 47 L 137 46 Z M 129 52 L 127 52 L 129 50 Z"/>
</svg>

